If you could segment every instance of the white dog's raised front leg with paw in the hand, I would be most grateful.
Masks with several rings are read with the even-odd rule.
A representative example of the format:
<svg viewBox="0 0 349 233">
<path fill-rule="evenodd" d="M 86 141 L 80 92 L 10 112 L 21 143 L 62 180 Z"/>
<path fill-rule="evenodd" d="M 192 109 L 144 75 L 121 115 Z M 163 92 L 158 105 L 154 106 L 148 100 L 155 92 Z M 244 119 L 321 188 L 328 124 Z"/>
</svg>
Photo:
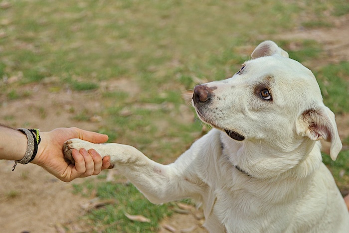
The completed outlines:
<svg viewBox="0 0 349 233">
<path fill-rule="evenodd" d="M 173 164 L 159 164 L 136 148 L 117 143 L 94 144 L 81 139 L 70 139 L 64 152 L 72 160 L 71 150 L 95 149 L 102 157 L 109 155 L 114 164 L 152 203 L 160 204 L 196 196 L 199 192 L 193 175 L 174 169 Z"/>
</svg>

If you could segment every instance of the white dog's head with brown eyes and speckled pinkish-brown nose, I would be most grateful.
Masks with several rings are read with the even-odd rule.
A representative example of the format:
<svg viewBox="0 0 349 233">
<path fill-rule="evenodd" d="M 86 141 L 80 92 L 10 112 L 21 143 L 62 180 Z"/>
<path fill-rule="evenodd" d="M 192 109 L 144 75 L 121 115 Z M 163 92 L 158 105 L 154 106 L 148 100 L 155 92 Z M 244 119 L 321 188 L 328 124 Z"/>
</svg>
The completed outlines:
<svg viewBox="0 0 349 233">
<path fill-rule="evenodd" d="M 251 56 L 233 77 L 194 88 L 199 118 L 230 140 L 266 144 L 280 154 L 324 138 L 335 160 L 342 143 L 313 73 L 272 41 Z"/>
</svg>

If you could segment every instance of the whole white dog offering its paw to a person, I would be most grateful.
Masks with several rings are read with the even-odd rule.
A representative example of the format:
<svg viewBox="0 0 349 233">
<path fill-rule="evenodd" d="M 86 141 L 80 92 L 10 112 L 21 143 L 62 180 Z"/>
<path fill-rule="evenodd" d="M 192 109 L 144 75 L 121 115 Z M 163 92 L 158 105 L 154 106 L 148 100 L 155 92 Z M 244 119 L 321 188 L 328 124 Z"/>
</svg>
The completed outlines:
<svg viewBox="0 0 349 233">
<path fill-rule="evenodd" d="M 261 43 L 233 77 L 198 85 L 193 106 L 214 127 L 174 163 L 159 164 L 132 146 L 92 144 L 153 203 L 202 203 L 212 233 L 349 232 L 349 213 L 319 139 L 342 148 L 335 116 L 313 73 L 272 41 Z"/>
</svg>

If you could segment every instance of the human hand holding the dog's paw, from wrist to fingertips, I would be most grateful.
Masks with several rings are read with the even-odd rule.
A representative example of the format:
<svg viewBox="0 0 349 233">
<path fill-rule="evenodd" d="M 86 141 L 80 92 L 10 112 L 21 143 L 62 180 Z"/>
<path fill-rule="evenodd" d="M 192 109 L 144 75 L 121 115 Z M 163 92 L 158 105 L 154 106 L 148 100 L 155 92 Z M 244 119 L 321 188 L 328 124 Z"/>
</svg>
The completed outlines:
<svg viewBox="0 0 349 233">
<path fill-rule="evenodd" d="M 33 159 L 35 163 L 58 179 L 69 182 L 78 177 L 97 175 L 110 167 L 110 157 L 103 158 L 93 149 L 73 150 L 75 164 L 64 157 L 63 143 L 71 138 L 80 138 L 93 143 L 103 143 L 108 136 L 76 127 L 56 128 L 49 132 L 40 132 L 41 142 Z"/>
</svg>

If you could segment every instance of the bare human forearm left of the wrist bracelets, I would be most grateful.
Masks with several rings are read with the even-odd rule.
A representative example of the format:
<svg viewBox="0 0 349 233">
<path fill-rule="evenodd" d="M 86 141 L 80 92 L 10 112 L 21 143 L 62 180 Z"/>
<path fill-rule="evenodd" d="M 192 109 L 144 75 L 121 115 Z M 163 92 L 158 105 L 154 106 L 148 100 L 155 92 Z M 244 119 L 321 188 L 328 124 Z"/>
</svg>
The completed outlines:
<svg viewBox="0 0 349 233">
<path fill-rule="evenodd" d="M 27 138 L 22 132 L 0 125 L 0 159 L 20 160 L 27 146 Z"/>
</svg>

